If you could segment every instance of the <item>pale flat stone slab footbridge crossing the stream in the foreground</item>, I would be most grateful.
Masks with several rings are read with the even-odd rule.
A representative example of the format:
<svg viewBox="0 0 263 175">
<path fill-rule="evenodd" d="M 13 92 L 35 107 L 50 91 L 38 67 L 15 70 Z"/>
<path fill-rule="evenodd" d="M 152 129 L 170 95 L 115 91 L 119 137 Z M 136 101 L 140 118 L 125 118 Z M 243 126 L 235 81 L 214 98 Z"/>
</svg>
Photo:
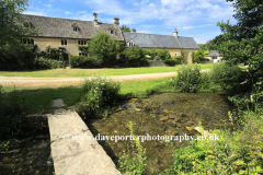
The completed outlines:
<svg viewBox="0 0 263 175">
<path fill-rule="evenodd" d="M 48 126 L 56 175 L 122 175 L 96 140 L 72 139 L 93 138 L 76 112 L 48 116 Z"/>
</svg>

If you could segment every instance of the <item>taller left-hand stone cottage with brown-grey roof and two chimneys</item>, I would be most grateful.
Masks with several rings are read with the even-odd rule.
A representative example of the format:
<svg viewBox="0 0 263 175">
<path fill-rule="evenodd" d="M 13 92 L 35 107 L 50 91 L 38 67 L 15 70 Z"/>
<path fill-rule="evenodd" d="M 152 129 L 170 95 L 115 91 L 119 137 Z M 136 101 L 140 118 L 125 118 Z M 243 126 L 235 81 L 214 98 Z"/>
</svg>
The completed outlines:
<svg viewBox="0 0 263 175">
<path fill-rule="evenodd" d="M 39 28 L 37 37 L 26 36 L 24 44 L 37 44 L 36 51 L 44 50 L 47 46 L 65 47 L 67 55 L 64 60 L 67 61 L 69 56 L 88 56 L 90 52 L 81 52 L 79 46 L 88 46 L 98 32 L 107 32 L 115 40 L 124 42 L 124 37 L 119 27 L 119 19 L 114 19 L 114 24 L 98 22 L 96 13 L 93 13 L 92 21 L 59 19 L 49 16 L 38 16 L 21 14 L 24 21 L 24 27 L 34 25 Z"/>
</svg>

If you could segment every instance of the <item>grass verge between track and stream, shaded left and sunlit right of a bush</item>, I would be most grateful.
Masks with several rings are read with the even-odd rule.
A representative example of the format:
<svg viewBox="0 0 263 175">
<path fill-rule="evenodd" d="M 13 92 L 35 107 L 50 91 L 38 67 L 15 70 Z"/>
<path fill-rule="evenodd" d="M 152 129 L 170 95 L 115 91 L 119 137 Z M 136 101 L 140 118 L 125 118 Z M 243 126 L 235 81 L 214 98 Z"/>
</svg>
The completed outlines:
<svg viewBox="0 0 263 175">
<path fill-rule="evenodd" d="M 124 82 L 121 86 L 121 95 L 123 98 L 130 97 L 147 97 L 152 91 L 165 92 L 169 91 L 167 83 L 171 78 Z M 81 88 L 80 86 L 66 86 L 66 88 L 20 88 L 3 86 L 2 90 L 7 92 L 7 100 L 11 101 L 16 94 L 20 103 L 24 103 L 30 114 L 35 113 L 50 113 L 54 108 L 50 107 L 50 101 L 54 98 L 62 98 L 66 104 L 65 107 L 75 105 L 80 102 Z M 172 90 L 170 90 L 172 91 Z"/>
</svg>

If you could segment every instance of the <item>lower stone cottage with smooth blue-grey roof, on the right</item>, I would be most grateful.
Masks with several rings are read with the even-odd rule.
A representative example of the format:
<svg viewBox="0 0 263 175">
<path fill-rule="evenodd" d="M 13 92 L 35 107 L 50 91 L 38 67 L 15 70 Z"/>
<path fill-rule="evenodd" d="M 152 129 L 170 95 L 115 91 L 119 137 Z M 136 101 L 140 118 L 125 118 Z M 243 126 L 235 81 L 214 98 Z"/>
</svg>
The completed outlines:
<svg viewBox="0 0 263 175">
<path fill-rule="evenodd" d="M 178 31 L 173 35 L 142 34 L 132 30 L 130 33 L 123 33 L 125 46 L 139 46 L 147 49 L 168 49 L 170 55 L 181 56 L 182 51 L 186 55 L 187 62 L 192 63 L 192 52 L 198 51 L 199 46 L 193 37 L 178 36 Z"/>
</svg>

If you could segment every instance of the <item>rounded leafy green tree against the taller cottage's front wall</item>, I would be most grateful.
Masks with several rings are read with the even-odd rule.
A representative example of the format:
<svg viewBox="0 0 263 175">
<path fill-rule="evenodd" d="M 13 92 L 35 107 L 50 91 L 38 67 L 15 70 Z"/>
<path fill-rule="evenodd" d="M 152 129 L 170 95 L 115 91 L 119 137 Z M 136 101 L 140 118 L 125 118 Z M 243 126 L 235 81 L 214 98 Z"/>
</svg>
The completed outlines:
<svg viewBox="0 0 263 175">
<path fill-rule="evenodd" d="M 104 63 L 116 59 L 116 54 L 121 46 L 106 32 L 99 32 L 91 38 L 89 43 L 89 50 L 93 56 L 98 56 Z"/>
</svg>

